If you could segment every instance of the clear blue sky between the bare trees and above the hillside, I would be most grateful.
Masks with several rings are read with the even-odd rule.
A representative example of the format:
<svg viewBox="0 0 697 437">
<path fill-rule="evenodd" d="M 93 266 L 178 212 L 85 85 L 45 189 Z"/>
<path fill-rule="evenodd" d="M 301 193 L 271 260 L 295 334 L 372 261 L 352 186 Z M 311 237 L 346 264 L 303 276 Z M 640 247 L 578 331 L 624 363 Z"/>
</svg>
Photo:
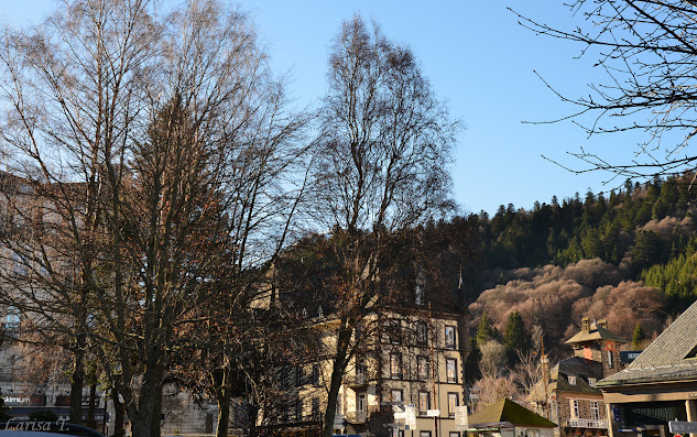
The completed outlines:
<svg viewBox="0 0 697 437">
<path fill-rule="evenodd" d="M 173 3 L 168 0 L 167 3 Z M 567 152 L 601 153 L 627 161 L 635 134 L 588 139 L 570 121 L 547 121 L 574 111 L 540 80 L 570 97 L 588 94 L 587 84 L 602 78 L 592 58 L 576 58 L 580 46 L 535 35 L 518 24 L 507 7 L 548 24 L 580 24 L 562 2 L 443 0 L 242 0 L 271 55 L 276 74 L 292 78 L 290 94 L 298 105 L 315 105 L 325 92 L 327 47 L 341 21 L 360 12 L 374 19 L 392 40 L 410 45 L 437 96 L 466 129 L 453 165 L 454 192 L 461 212 L 495 212 L 499 205 L 531 208 L 553 195 L 609 192 L 622 181 L 603 184 L 608 174 L 574 175 L 548 161 L 582 167 Z M 58 0 L 0 0 L 0 15 L 13 25 L 36 24 Z"/>
</svg>

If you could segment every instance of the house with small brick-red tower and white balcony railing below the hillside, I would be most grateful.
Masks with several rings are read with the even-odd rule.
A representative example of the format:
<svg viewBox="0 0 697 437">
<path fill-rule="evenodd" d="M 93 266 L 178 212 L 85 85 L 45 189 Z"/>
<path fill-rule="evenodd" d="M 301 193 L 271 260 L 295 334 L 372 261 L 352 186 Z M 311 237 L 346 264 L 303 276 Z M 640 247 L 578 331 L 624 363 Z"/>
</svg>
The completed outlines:
<svg viewBox="0 0 697 437">
<path fill-rule="evenodd" d="M 549 369 L 547 381 L 538 382 L 529 397 L 538 413 L 559 425 L 555 435 L 608 435 L 606 405 L 596 383 L 621 370 L 620 345 L 624 342 L 608 330 L 605 320 L 582 319 L 581 330 L 566 341 L 575 356 Z"/>
</svg>

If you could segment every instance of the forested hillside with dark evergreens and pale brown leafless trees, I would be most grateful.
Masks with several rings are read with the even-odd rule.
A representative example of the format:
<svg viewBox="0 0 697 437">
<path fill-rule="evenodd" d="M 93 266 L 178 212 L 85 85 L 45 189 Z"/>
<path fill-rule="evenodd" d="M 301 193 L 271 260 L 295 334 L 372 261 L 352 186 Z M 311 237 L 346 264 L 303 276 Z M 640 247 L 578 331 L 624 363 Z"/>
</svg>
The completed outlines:
<svg viewBox="0 0 697 437">
<path fill-rule="evenodd" d="M 493 217 L 471 215 L 480 260 L 470 283 L 472 328 L 487 315 L 503 332 L 519 310 L 538 325 L 548 348 L 563 342 L 580 318 L 607 318 L 628 340 L 645 336 L 697 298 L 697 187 L 694 175 L 584 197 L 576 194 L 532 209 L 513 205 Z"/>
</svg>

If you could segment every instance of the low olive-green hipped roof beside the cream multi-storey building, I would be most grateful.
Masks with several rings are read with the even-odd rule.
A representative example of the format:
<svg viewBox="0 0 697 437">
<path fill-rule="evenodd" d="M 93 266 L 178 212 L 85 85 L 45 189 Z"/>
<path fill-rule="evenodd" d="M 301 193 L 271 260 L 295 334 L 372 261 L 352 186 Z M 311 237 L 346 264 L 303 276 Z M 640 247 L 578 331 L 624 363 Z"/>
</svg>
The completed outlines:
<svg viewBox="0 0 697 437">
<path fill-rule="evenodd" d="M 469 416 L 469 436 L 501 437 L 552 437 L 556 428 L 554 422 L 531 412 L 509 398 Z"/>
</svg>

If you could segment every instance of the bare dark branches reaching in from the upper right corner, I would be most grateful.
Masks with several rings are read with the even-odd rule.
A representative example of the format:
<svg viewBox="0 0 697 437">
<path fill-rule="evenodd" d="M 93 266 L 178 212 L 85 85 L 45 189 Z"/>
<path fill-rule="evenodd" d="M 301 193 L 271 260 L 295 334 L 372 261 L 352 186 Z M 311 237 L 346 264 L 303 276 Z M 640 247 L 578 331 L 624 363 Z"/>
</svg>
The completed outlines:
<svg viewBox="0 0 697 437">
<path fill-rule="evenodd" d="M 581 56 L 593 56 L 596 67 L 607 74 L 607 81 L 590 86 L 588 97 L 559 95 L 579 108 L 570 117 L 584 123 L 589 134 L 631 130 L 647 134 L 636 154 L 624 162 L 574 153 L 589 164 L 575 172 L 601 170 L 646 177 L 693 170 L 697 161 L 689 149 L 697 133 L 697 6 L 683 0 L 575 0 L 568 6 L 585 23 L 555 29 L 519 17 L 538 34 L 580 43 Z M 586 114 L 595 117 L 588 122 Z"/>
</svg>

